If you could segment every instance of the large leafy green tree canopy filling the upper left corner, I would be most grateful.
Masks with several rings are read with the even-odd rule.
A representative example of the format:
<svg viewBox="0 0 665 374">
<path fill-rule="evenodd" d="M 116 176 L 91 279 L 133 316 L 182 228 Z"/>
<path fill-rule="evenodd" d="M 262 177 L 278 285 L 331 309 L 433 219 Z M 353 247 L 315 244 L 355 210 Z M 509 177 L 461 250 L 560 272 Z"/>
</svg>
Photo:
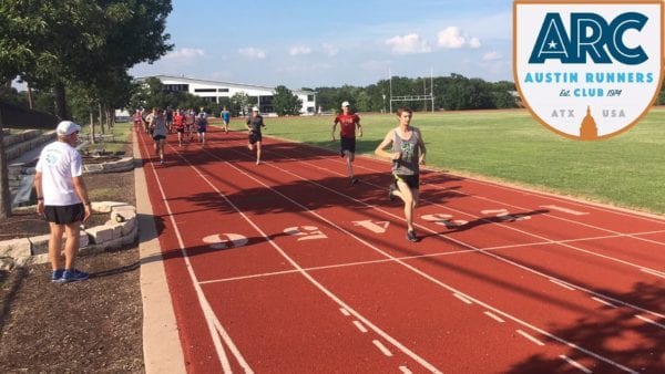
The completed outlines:
<svg viewBox="0 0 665 374">
<path fill-rule="evenodd" d="M 52 89 L 57 114 L 69 118 L 65 87 L 108 82 L 105 72 L 153 62 L 170 51 L 170 0 L 4 0 L 0 7 L 0 77 L 20 75 Z M 66 20 L 66 27 L 63 27 Z"/>
</svg>

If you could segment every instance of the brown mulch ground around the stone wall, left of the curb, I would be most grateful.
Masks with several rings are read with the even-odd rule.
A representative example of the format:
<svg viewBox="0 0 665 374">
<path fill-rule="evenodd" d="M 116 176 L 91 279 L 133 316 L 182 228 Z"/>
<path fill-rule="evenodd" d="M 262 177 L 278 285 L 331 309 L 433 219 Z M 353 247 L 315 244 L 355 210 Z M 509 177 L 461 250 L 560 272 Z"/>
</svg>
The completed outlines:
<svg viewBox="0 0 665 374">
<path fill-rule="evenodd" d="M 135 205 L 133 172 L 83 177 L 91 200 Z M 94 215 L 86 226 L 103 224 Z M 0 221 L 0 232 L 48 233 L 33 211 Z M 7 238 L 0 237 L 0 240 Z M 91 273 L 78 283 L 50 282 L 50 264 L 0 272 L 0 366 L 3 373 L 143 373 L 143 310 L 137 245 L 82 256 Z"/>
</svg>

